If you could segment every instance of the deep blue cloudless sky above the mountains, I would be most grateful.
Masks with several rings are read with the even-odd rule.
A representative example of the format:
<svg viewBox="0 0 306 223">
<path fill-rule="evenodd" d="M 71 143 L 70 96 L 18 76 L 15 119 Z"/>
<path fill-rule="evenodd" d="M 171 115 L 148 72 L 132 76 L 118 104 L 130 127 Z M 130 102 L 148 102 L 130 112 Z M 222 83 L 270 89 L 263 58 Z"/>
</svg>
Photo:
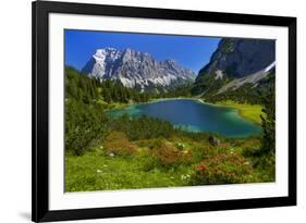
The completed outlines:
<svg viewBox="0 0 306 223">
<path fill-rule="evenodd" d="M 173 59 L 196 74 L 209 62 L 220 38 L 71 30 L 65 33 L 65 64 L 82 70 L 97 49 L 112 47 L 132 48 L 148 52 L 158 61 Z"/>
</svg>

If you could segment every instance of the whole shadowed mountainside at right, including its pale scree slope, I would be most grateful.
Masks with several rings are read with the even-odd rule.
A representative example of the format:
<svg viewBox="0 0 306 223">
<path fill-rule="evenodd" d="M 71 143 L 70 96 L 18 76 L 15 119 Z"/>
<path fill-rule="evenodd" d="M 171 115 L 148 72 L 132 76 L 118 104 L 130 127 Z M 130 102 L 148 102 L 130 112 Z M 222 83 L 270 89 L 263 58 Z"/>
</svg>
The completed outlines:
<svg viewBox="0 0 306 223">
<path fill-rule="evenodd" d="M 253 89 L 274 73 L 274 40 L 223 38 L 209 63 L 199 71 L 193 92 L 211 97 L 245 85 Z"/>
</svg>

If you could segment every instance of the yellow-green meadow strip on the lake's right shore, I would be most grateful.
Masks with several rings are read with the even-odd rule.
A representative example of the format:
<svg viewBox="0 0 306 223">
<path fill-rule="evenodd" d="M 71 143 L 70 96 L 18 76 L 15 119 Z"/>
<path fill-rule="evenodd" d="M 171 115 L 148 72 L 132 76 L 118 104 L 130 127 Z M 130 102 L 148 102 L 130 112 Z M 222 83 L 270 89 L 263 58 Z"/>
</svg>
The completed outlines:
<svg viewBox="0 0 306 223">
<path fill-rule="evenodd" d="M 217 104 L 228 106 L 238 110 L 238 113 L 244 119 L 247 119 L 257 124 L 261 124 L 260 115 L 265 116 L 260 104 L 237 103 L 232 100 L 219 101 Z"/>
</svg>

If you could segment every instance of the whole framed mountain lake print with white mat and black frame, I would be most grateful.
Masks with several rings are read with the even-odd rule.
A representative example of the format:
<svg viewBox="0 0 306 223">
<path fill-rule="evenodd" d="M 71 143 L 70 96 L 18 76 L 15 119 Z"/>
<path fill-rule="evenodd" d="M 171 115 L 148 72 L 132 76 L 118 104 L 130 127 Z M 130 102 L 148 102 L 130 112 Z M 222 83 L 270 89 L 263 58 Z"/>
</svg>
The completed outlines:
<svg viewBox="0 0 306 223">
<path fill-rule="evenodd" d="M 296 205 L 296 18 L 33 2 L 33 221 Z"/>
</svg>

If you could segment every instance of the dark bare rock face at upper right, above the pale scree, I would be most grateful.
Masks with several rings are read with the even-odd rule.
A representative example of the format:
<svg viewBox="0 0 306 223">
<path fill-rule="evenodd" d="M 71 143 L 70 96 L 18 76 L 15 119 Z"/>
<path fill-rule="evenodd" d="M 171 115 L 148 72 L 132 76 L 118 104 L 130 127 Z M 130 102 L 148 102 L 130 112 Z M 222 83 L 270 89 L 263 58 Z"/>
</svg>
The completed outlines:
<svg viewBox="0 0 306 223">
<path fill-rule="evenodd" d="M 266 69 L 274 61 L 273 40 L 224 38 L 199 75 L 225 74 L 230 77 L 244 77 Z"/>
</svg>

